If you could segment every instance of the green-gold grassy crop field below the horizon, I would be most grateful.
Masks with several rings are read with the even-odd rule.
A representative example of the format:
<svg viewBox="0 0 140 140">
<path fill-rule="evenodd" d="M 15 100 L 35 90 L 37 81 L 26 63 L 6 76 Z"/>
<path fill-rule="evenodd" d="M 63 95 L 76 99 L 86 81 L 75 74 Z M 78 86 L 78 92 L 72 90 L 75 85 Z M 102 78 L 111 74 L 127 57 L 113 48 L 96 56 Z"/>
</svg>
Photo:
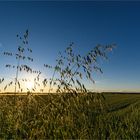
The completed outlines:
<svg viewBox="0 0 140 140">
<path fill-rule="evenodd" d="M 140 139 L 140 94 L 0 96 L 1 139 Z"/>
</svg>

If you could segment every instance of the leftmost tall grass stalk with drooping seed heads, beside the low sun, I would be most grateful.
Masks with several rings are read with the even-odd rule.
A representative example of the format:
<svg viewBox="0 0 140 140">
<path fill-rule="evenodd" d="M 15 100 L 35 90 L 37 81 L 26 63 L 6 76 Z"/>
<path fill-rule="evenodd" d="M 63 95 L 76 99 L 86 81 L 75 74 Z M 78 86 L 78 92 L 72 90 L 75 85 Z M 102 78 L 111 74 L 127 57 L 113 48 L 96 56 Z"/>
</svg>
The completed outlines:
<svg viewBox="0 0 140 140">
<path fill-rule="evenodd" d="M 22 78 L 19 79 L 19 73 L 26 73 L 28 72 L 29 74 L 39 74 L 39 70 L 33 70 L 30 67 L 30 64 L 26 64 L 27 61 L 29 61 L 29 63 L 33 62 L 34 59 L 32 57 L 30 57 L 30 54 L 32 53 L 32 49 L 28 47 L 28 36 L 29 36 L 29 30 L 26 29 L 25 32 L 23 33 L 23 35 L 20 34 L 16 34 L 16 38 L 19 42 L 19 45 L 17 45 L 17 52 L 11 53 L 8 51 L 4 51 L 3 55 L 8 57 L 8 56 L 12 56 L 15 57 L 17 60 L 17 64 L 16 65 L 11 65 L 11 64 L 6 64 L 5 67 L 10 69 L 10 68 L 14 68 L 15 69 L 15 75 L 16 77 L 13 79 L 12 82 L 10 82 L 8 84 L 8 86 L 12 85 L 12 83 L 15 83 L 15 93 L 20 90 L 23 91 L 22 88 L 22 83 L 27 82 L 27 78 Z M 26 53 L 27 52 L 27 53 Z M 29 52 L 29 53 L 28 53 Z M 21 64 L 22 61 L 22 64 Z M 25 64 L 24 64 L 25 63 Z M 35 73 L 33 73 L 35 72 Z M 41 73 L 40 73 L 41 74 Z M 0 79 L 0 84 L 4 81 L 4 79 Z M 6 90 L 8 87 L 7 85 L 4 87 L 4 90 Z"/>
</svg>

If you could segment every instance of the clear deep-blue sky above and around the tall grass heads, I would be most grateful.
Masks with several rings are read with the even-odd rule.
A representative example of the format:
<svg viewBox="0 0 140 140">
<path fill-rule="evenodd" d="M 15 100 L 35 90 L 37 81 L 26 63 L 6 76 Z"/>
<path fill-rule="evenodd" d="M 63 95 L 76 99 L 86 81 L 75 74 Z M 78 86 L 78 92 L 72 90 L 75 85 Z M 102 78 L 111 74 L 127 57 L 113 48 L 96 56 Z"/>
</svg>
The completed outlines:
<svg viewBox="0 0 140 140">
<path fill-rule="evenodd" d="M 3 65 L 13 60 L 2 51 L 14 51 L 16 34 L 27 28 L 36 69 L 54 64 L 71 41 L 80 53 L 116 43 L 91 88 L 140 91 L 140 2 L 0 2 L 0 77 L 12 76 Z"/>
</svg>

